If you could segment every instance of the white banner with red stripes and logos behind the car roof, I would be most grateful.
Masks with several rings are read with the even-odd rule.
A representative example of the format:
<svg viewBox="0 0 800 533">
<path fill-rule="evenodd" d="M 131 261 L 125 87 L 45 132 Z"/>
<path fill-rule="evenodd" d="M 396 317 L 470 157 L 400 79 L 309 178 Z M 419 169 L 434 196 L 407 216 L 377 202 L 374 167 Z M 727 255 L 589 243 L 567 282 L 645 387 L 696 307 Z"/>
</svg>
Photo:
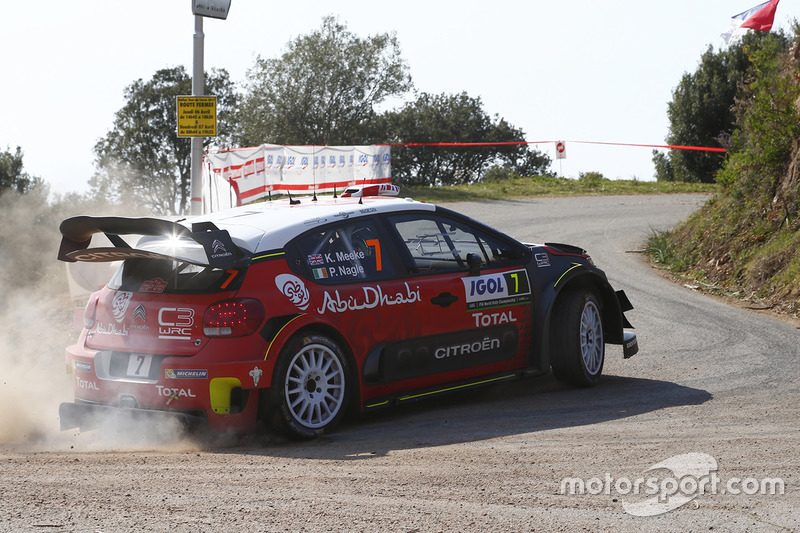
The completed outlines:
<svg viewBox="0 0 800 533">
<path fill-rule="evenodd" d="M 206 154 L 203 168 L 203 212 L 224 209 L 231 198 L 236 205 L 253 202 L 271 191 L 332 192 L 392 181 L 391 148 L 376 145 L 263 144 Z"/>
</svg>

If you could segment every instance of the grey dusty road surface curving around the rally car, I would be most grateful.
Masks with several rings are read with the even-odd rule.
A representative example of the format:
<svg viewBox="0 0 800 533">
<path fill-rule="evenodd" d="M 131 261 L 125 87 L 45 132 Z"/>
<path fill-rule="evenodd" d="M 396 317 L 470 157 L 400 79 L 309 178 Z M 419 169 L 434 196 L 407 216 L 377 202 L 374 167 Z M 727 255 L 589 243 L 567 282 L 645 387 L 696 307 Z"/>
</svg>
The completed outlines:
<svg viewBox="0 0 800 533">
<path fill-rule="evenodd" d="M 641 351 L 609 347 L 595 388 L 523 380 L 308 443 L 39 432 L 0 452 L 0 530 L 800 530 L 800 331 L 673 284 L 638 253 L 704 200 L 450 206 L 582 246 L 627 292 Z"/>
</svg>

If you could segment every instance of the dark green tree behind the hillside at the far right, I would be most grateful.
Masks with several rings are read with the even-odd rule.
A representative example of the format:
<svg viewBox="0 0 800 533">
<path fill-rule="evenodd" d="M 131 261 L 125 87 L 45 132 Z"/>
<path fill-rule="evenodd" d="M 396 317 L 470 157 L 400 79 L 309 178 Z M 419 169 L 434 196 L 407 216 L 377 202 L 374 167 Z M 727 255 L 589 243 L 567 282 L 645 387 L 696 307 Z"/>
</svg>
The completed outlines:
<svg viewBox="0 0 800 533">
<path fill-rule="evenodd" d="M 777 39 L 788 46 L 782 32 L 750 32 L 727 49 L 703 53 L 697 70 L 686 73 L 672 93 L 667 106 L 669 134 L 667 144 L 723 146 L 736 127 L 733 111 L 737 96 L 752 75 L 752 53 L 766 40 Z M 659 181 L 713 183 L 725 161 L 724 154 L 672 150 L 668 155 L 653 152 Z"/>
</svg>

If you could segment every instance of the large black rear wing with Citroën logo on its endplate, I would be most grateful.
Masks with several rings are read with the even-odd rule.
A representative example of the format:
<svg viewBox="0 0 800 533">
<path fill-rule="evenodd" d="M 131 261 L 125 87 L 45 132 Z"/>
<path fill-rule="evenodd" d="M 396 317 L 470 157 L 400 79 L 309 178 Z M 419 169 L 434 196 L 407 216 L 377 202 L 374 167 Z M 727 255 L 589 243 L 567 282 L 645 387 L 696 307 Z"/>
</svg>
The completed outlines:
<svg viewBox="0 0 800 533">
<path fill-rule="evenodd" d="M 200 266 L 229 269 L 244 266 L 250 254 L 233 243 L 227 230 L 211 222 L 186 226 L 160 218 L 77 216 L 64 220 L 59 227 L 61 246 L 58 259 L 106 262 L 125 259 L 167 259 Z M 103 233 L 113 247 L 89 248 L 92 235 Z M 142 235 L 165 239 L 142 239 L 136 248 L 120 235 Z M 165 246 L 168 242 L 175 246 Z"/>
</svg>

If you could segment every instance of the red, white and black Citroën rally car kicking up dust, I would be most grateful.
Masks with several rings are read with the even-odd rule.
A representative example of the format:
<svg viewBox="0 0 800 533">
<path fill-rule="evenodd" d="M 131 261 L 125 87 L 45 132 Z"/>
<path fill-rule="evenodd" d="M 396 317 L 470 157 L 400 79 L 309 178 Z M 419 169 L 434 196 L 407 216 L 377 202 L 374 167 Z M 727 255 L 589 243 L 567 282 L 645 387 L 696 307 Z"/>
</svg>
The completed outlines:
<svg viewBox="0 0 800 533">
<path fill-rule="evenodd" d="M 590 386 L 606 343 L 638 351 L 630 302 L 584 250 L 346 195 L 180 222 L 63 221 L 59 259 L 122 263 L 66 350 L 75 400 L 61 404 L 62 430 L 125 414 L 312 438 L 347 411 L 551 368 Z M 95 233 L 113 246 L 90 248 Z"/>
</svg>

